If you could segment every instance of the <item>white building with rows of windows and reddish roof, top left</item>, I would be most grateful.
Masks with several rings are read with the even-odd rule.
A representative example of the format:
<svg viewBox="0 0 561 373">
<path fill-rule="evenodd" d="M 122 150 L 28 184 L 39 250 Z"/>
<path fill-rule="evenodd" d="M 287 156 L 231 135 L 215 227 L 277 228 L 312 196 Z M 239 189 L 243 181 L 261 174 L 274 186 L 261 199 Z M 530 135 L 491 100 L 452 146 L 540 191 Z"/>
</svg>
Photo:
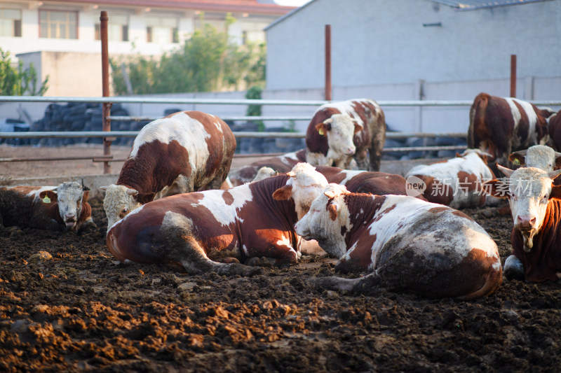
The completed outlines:
<svg viewBox="0 0 561 373">
<path fill-rule="evenodd" d="M 47 96 L 100 96 L 102 10 L 110 56 L 157 57 L 189 38 L 201 19 L 241 44 L 264 41 L 264 27 L 293 9 L 263 0 L 2 0 L 0 47 L 50 76 Z"/>
</svg>

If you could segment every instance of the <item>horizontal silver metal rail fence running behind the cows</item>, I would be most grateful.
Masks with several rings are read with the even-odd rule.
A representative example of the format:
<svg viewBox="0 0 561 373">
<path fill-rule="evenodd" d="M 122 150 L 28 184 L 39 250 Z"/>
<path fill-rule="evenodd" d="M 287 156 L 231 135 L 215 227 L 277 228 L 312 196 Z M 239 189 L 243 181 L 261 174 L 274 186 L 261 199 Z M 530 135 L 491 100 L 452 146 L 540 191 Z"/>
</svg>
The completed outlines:
<svg viewBox="0 0 561 373">
<path fill-rule="evenodd" d="M 328 101 L 323 100 L 272 100 L 272 99 L 196 99 L 196 98 L 149 98 L 149 97 L 39 97 L 39 96 L 0 96 L 1 102 L 88 102 L 100 103 L 104 106 L 111 104 L 215 104 L 215 105 L 277 105 L 277 106 L 320 106 Z M 451 100 L 451 101 L 377 101 L 384 108 L 389 106 L 471 106 L 473 101 Z M 531 101 L 532 104 L 540 106 L 560 106 L 561 101 Z M 135 117 L 135 116 L 111 116 L 107 111 L 104 120 L 110 124 L 111 120 L 120 121 L 148 121 L 159 117 Z M 222 120 L 233 121 L 256 121 L 256 120 L 310 120 L 308 116 L 236 116 L 221 117 Z M 105 128 L 106 126 L 104 126 Z M 110 127 L 110 126 L 107 126 Z M 26 139 L 26 138 L 102 138 L 104 139 L 104 155 L 89 157 L 60 157 L 50 158 L 49 160 L 69 160 L 69 159 L 91 159 L 97 162 L 104 162 L 104 173 L 108 173 L 109 162 L 116 160 L 110 155 L 111 141 L 118 137 L 135 137 L 138 131 L 90 131 L 90 132 L 0 132 L 0 139 Z M 299 132 L 234 132 L 237 139 L 241 138 L 304 138 L 306 134 Z M 388 132 L 387 139 L 410 138 L 410 137 L 465 137 L 464 132 Z M 407 151 L 430 151 L 430 150 L 461 150 L 466 146 L 414 146 L 386 148 L 384 152 L 407 152 Z M 263 154 L 267 156 L 271 154 Z M 255 155 L 253 155 L 255 156 Z M 0 158 L 0 162 L 34 162 L 46 160 L 44 158 Z"/>
</svg>

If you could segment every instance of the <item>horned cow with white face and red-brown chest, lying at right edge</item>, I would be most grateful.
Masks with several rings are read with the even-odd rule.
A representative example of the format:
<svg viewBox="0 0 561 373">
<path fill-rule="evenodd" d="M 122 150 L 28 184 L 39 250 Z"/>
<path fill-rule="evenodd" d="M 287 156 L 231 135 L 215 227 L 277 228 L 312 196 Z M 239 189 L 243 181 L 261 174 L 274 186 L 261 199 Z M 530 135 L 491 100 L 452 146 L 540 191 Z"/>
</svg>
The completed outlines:
<svg viewBox="0 0 561 373">
<path fill-rule="evenodd" d="M 543 171 L 520 167 L 515 171 L 499 169 L 506 179 L 484 184 L 485 191 L 508 198 L 513 218 L 511 255 L 504 263 L 507 279 L 530 282 L 561 279 L 561 185 L 553 180 L 561 170 Z"/>
</svg>

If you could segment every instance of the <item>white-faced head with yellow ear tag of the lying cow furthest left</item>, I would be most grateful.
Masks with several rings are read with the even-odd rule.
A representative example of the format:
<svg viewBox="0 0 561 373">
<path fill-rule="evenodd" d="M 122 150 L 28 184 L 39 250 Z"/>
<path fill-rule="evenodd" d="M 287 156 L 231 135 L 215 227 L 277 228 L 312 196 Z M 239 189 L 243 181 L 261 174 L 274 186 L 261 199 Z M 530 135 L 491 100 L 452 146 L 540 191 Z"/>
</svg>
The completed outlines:
<svg viewBox="0 0 561 373">
<path fill-rule="evenodd" d="M 76 229 L 82 205 L 88 202 L 89 193 L 89 189 L 80 183 L 67 181 L 52 190 L 43 190 L 39 193 L 39 197 L 41 199 L 48 197 L 50 202 L 57 202 L 58 213 L 67 229 Z"/>
</svg>

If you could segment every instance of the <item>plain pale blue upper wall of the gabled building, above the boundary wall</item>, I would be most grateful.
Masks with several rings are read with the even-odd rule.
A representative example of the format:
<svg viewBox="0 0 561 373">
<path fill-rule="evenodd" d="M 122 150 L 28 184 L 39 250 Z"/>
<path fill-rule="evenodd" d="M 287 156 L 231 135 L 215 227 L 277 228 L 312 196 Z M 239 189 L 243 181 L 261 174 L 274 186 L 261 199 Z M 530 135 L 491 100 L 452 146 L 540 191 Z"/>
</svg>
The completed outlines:
<svg viewBox="0 0 561 373">
<path fill-rule="evenodd" d="M 520 78 L 558 77 L 560 18 L 561 1 L 457 11 L 428 0 L 314 0 L 266 30 L 267 88 L 323 87 L 325 24 L 334 87 L 503 79 L 512 54 Z"/>
</svg>

